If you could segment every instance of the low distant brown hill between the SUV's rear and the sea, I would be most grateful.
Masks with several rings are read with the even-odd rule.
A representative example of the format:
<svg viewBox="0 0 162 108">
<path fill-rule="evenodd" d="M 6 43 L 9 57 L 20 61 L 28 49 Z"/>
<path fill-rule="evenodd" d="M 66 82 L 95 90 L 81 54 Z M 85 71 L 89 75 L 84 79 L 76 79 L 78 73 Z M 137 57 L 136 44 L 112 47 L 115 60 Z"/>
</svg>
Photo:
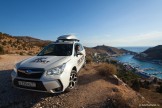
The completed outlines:
<svg viewBox="0 0 162 108">
<path fill-rule="evenodd" d="M 99 45 L 99 46 L 92 47 L 92 48 L 85 47 L 85 49 L 86 49 L 87 54 L 94 54 L 95 52 L 107 53 L 110 55 L 113 55 L 113 54 L 121 55 L 124 53 L 136 54 L 135 52 L 132 52 L 132 51 L 128 51 L 125 49 L 118 49 L 116 47 L 111 47 L 111 46 L 106 46 L 106 45 Z"/>
</svg>

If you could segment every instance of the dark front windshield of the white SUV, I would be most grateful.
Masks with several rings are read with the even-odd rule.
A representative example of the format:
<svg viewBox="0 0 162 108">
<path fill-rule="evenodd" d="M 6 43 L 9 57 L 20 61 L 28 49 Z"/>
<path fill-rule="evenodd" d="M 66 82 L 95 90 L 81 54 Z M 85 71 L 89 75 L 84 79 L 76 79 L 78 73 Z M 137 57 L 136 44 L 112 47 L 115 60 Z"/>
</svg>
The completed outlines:
<svg viewBox="0 0 162 108">
<path fill-rule="evenodd" d="M 72 44 L 50 44 L 38 56 L 70 56 L 72 55 L 72 48 Z"/>
</svg>

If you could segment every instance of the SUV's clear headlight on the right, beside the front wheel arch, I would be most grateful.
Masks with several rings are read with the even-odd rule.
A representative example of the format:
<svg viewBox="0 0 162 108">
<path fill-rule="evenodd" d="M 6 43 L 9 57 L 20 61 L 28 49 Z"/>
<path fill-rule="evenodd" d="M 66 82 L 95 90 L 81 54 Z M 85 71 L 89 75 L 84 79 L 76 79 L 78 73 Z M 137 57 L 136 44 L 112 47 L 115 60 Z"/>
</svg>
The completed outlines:
<svg viewBox="0 0 162 108">
<path fill-rule="evenodd" d="M 63 65 L 61 66 L 58 66 L 58 67 L 55 67 L 55 68 L 52 68 L 52 69 L 49 69 L 47 72 L 46 72 L 46 75 L 60 75 L 63 71 L 64 71 L 64 68 L 65 68 L 66 64 L 64 63 Z"/>
</svg>

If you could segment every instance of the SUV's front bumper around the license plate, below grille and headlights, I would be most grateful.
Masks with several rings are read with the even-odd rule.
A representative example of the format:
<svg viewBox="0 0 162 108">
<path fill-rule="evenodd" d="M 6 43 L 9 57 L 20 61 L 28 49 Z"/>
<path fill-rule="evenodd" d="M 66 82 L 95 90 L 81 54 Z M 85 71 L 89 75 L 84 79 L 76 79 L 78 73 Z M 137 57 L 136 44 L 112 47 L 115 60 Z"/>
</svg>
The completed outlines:
<svg viewBox="0 0 162 108">
<path fill-rule="evenodd" d="M 34 83 L 36 86 L 32 87 L 29 85 L 22 85 L 19 82 L 25 83 Z M 15 87 L 20 89 L 26 89 L 30 91 L 40 91 L 40 92 L 49 92 L 49 93 L 60 93 L 63 92 L 63 85 L 61 80 L 36 80 L 36 79 L 26 79 L 15 77 L 12 78 L 12 83 Z"/>
</svg>

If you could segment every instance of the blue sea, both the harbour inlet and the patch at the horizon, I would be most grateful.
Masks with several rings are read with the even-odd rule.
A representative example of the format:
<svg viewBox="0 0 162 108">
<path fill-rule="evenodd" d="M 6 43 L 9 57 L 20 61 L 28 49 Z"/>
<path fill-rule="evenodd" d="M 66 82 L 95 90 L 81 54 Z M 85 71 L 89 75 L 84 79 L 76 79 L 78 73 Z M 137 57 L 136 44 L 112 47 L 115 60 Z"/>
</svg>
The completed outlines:
<svg viewBox="0 0 162 108">
<path fill-rule="evenodd" d="M 147 50 L 150 47 L 120 47 L 120 48 L 124 48 L 129 51 L 134 51 L 134 52 L 140 53 L 140 52 Z M 135 58 L 133 58 L 133 55 L 130 55 L 130 54 L 118 56 L 115 59 L 120 62 L 123 62 L 123 63 L 129 63 L 131 65 L 138 66 L 140 69 L 144 70 L 144 72 L 147 74 L 161 72 L 160 74 L 156 74 L 154 76 L 159 79 L 162 79 L 162 65 L 135 59 Z"/>
</svg>

